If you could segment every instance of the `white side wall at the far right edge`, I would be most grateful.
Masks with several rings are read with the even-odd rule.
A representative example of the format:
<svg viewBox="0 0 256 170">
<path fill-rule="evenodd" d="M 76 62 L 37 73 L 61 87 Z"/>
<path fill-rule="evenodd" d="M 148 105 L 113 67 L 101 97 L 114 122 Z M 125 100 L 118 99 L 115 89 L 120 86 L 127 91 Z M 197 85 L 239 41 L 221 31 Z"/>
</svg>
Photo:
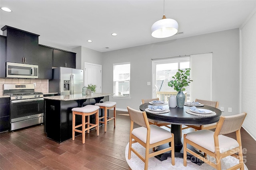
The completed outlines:
<svg viewBox="0 0 256 170">
<path fill-rule="evenodd" d="M 240 28 L 240 112 L 247 112 L 243 127 L 256 140 L 256 10 Z"/>
</svg>

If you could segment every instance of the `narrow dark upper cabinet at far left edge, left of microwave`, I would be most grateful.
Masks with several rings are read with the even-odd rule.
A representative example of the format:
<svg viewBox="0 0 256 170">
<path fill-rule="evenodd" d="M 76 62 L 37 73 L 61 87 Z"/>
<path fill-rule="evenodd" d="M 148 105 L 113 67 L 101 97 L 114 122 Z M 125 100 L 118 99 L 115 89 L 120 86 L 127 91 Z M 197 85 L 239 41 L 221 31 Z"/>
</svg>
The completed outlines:
<svg viewBox="0 0 256 170">
<path fill-rule="evenodd" d="M 0 77 L 5 77 L 6 37 L 0 35 Z"/>
</svg>

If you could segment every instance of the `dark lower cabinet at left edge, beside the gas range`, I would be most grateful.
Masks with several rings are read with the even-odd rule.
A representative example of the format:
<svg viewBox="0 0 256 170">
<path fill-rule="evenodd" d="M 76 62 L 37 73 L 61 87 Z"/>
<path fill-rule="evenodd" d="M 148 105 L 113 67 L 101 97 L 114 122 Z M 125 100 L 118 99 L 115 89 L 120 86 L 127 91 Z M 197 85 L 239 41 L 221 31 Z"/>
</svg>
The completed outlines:
<svg viewBox="0 0 256 170">
<path fill-rule="evenodd" d="M 0 98 L 0 132 L 10 129 L 10 98 Z"/>
</svg>

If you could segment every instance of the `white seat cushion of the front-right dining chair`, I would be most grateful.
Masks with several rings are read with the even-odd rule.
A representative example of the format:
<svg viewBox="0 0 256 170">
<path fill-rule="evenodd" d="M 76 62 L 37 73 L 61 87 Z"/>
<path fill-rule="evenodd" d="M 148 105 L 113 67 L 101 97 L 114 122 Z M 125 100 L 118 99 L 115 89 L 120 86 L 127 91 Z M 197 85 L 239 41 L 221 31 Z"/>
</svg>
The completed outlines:
<svg viewBox="0 0 256 170">
<path fill-rule="evenodd" d="M 204 147 L 205 149 L 210 150 L 211 152 L 215 152 L 214 146 L 214 132 L 210 130 L 200 130 L 187 133 L 186 139 Z M 219 146 L 220 153 L 226 152 L 228 150 L 239 147 L 238 142 L 235 139 L 230 137 L 226 137 L 224 135 L 219 135 Z"/>
</svg>

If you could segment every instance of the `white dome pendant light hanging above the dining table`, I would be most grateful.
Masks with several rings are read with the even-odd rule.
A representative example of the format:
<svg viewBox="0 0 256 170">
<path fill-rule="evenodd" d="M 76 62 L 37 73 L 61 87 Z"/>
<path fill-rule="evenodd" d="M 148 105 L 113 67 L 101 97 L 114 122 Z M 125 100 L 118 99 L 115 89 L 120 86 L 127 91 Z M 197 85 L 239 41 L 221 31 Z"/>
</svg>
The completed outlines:
<svg viewBox="0 0 256 170">
<path fill-rule="evenodd" d="M 178 22 L 174 19 L 163 16 L 162 20 L 153 23 L 151 27 L 151 35 L 155 38 L 166 38 L 175 35 L 178 32 Z"/>
</svg>

